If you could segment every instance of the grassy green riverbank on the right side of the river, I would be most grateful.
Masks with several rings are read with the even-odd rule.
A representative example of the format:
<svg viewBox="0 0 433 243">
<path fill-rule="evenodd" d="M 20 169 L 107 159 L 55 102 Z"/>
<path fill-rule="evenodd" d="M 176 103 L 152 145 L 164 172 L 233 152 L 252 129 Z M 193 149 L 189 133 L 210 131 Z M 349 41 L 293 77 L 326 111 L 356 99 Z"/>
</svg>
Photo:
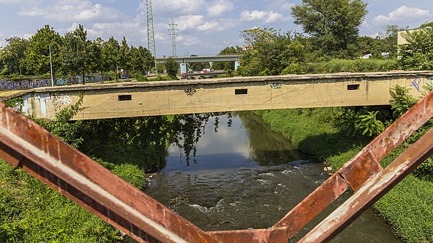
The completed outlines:
<svg viewBox="0 0 433 243">
<path fill-rule="evenodd" d="M 309 108 L 273 111 L 255 111 L 271 126 L 281 132 L 293 146 L 318 157 L 334 170 L 342 167 L 367 143 L 364 137 L 347 136 L 333 126 L 333 108 Z M 380 161 L 386 167 L 403 152 L 400 146 Z M 388 194 L 373 209 L 377 211 L 405 242 L 433 242 L 433 183 L 412 174 Z"/>
</svg>

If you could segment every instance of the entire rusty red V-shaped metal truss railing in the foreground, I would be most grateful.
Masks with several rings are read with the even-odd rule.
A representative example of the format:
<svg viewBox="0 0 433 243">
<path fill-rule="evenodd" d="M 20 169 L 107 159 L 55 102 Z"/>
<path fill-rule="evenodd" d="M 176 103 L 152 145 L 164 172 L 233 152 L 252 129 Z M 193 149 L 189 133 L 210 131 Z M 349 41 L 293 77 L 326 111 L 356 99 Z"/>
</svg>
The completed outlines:
<svg viewBox="0 0 433 243">
<path fill-rule="evenodd" d="M 386 169 L 379 161 L 433 116 L 426 95 L 269 229 L 203 231 L 27 117 L 0 103 L 0 158 L 22 167 L 138 242 L 287 242 L 351 187 L 355 194 L 300 242 L 340 233 L 433 154 L 433 129 Z"/>
</svg>

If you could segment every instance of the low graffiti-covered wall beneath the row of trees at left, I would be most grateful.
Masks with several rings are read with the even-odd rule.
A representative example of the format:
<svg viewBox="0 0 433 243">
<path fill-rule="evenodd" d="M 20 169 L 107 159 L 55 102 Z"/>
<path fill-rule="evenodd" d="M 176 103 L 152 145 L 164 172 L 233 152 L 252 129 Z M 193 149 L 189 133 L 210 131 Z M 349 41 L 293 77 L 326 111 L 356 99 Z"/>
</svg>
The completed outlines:
<svg viewBox="0 0 433 243">
<path fill-rule="evenodd" d="M 102 82 L 109 80 L 108 76 L 88 76 L 86 82 Z M 71 85 L 71 84 L 82 84 L 82 77 L 74 78 L 57 78 L 56 85 Z M 51 86 L 51 79 L 49 78 L 37 78 L 37 79 L 25 79 L 25 80 L 6 80 L 0 78 L 0 90 L 20 90 L 20 89 L 34 89 L 39 87 Z"/>
</svg>

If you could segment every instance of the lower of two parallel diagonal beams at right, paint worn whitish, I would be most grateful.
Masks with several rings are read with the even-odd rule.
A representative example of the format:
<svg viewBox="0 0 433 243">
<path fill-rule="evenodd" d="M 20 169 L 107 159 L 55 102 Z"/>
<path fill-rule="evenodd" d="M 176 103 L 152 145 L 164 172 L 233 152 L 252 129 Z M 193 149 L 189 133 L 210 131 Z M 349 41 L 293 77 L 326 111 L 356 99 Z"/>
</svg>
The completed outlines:
<svg viewBox="0 0 433 243">
<path fill-rule="evenodd" d="M 433 155 L 433 128 L 362 186 L 300 242 L 327 242 Z"/>
</svg>

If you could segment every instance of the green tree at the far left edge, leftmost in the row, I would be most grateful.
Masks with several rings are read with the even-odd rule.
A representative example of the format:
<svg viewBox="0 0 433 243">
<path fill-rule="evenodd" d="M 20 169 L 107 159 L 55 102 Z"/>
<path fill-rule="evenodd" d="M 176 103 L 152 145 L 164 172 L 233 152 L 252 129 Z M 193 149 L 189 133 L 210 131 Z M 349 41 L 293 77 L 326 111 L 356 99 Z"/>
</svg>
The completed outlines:
<svg viewBox="0 0 433 243">
<path fill-rule="evenodd" d="M 23 75 L 25 66 L 23 60 L 25 58 L 24 53 L 27 49 L 29 41 L 25 38 L 11 37 L 6 39 L 8 43 L 3 49 L 0 50 L 1 59 L 5 65 L 5 69 L 1 71 L 3 75 L 18 74 Z"/>
</svg>

